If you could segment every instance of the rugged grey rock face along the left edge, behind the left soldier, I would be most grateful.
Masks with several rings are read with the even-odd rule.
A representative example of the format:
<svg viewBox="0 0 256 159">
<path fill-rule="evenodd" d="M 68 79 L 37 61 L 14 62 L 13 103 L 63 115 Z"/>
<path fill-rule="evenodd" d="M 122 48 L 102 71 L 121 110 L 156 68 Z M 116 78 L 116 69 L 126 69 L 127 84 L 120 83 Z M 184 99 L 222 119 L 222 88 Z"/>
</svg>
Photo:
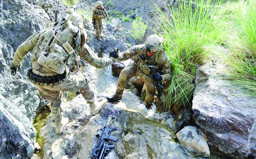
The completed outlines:
<svg viewBox="0 0 256 159">
<path fill-rule="evenodd" d="M 21 159 L 34 152 L 36 130 L 32 121 L 40 100 L 27 79 L 30 54 L 22 61 L 17 76 L 11 75 L 9 66 L 23 41 L 52 25 L 55 4 L 54 0 L 0 0 L 0 159 Z"/>
</svg>

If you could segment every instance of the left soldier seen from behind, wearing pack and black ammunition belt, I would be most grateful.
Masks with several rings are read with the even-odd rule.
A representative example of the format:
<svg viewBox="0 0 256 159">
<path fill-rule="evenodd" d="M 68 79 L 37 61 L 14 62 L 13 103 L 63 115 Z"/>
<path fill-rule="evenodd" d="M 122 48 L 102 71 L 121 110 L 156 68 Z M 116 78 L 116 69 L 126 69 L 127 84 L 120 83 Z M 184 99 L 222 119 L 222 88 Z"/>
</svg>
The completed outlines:
<svg viewBox="0 0 256 159">
<path fill-rule="evenodd" d="M 53 41 L 48 43 L 52 36 Z M 98 58 L 85 44 L 86 41 L 83 18 L 73 12 L 58 28 L 41 31 L 29 37 L 17 48 L 11 63 L 11 74 L 16 74 L 21 60 L 33 49 L 32 69 L 28 71 L 28 77 L 37 88 L 39 96 L 51 102 L 50 109 L 57 134 L 68 123 L 68 118 L 62 118 L 62 91 L 80 91 L 91 108 L 91 115 L 98 113 L 107 102 L 106 99 L 97 100 L 88 75 L 79 71 L 79 67 L 82 60 L 94 67 L 103 68 L 115 62 L 115 59 Z"/>
</svg>

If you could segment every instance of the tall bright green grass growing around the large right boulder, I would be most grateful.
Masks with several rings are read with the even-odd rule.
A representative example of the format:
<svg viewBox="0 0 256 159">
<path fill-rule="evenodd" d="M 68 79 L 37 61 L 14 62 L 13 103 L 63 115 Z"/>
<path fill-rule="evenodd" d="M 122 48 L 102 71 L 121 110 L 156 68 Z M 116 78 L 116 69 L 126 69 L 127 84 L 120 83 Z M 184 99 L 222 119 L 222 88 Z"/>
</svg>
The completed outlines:
<svg viewBox="0 0 256 159">
<path fill-rule="evenodd" d="M 256 97 L 256 0 L 179 1 L 157 14 L 157 33 L 172 62 L 166 111 L 191 104 L 196 68 L 216 52 L 229 65 L 230 81 Z"/>
</svg>

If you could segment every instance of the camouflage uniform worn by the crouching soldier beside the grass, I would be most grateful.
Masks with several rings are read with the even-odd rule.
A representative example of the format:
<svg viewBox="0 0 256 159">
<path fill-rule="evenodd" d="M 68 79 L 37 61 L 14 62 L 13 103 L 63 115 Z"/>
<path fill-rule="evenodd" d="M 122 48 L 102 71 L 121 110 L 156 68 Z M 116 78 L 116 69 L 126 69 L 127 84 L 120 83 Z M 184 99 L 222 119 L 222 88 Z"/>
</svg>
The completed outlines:
<svg viewBox="0 0 256 159">
<path fill-rule="evenodd" d="M 171 60 L 164 49 L 156 51 L 153 56 L 148 56 L 146 48 L 143 45 L 136 45 L 127 51 L 118 53 L 117 61 L 125 61 L 133 59 L 134 62 L 125 67 L 118 79 L 116 94 L 122 97 L 128 78 L 139 76 L 144 80 L 146 86 L 145 105 L 150 106 L 154 101 L 154 93 L 156 91 L 152 79 L 149 77 L 150 69 L 147 65 L 154 65 L 158 70 L 162 71 L 162 81 L 167 82 L 171 79 Z M 144 56 L 143 60 L 141 57 Z M 160 101 L 157 99 L 159 105 Z"/>
</svg>

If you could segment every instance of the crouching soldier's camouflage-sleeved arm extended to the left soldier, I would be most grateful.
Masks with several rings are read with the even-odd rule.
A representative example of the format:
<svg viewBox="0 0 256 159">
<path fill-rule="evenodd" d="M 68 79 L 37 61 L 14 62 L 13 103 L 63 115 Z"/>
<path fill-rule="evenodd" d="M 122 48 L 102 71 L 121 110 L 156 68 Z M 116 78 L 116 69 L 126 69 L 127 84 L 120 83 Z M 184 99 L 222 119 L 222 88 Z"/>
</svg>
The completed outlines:
<svg viewBox="0 0 256 159">
<path fill-rule="evenodd" d="M 142 45 L 135 45 L 126 51 L 119 52 L 118 53 L 119 57 L 117 58 L 117 61 L 125 61 L 125 60 L 132 58 L 133 56 L 138 54 L 139 49 L 141 47 L 142 47 Z"/>
</svg>

